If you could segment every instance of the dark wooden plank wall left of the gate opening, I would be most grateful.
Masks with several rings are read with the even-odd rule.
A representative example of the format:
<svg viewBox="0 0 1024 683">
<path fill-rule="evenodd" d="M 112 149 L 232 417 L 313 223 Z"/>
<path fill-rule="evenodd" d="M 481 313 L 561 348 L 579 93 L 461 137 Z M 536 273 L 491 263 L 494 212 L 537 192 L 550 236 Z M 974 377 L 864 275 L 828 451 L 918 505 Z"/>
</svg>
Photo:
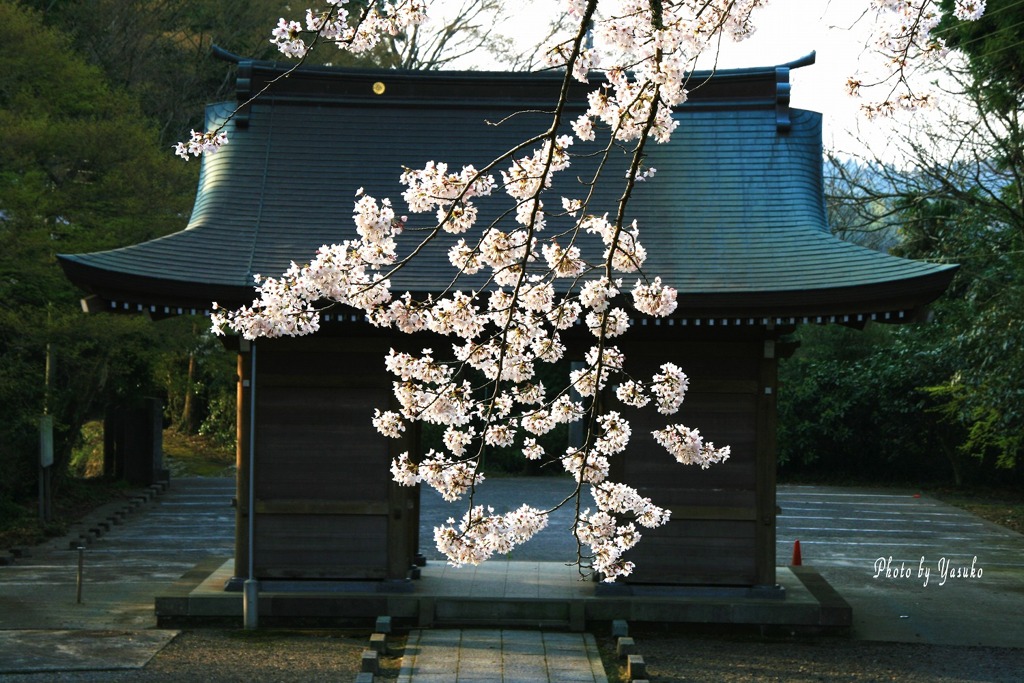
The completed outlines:
<svg viewBox="0 0 1024 683">
<path fill-rule="evenodd" d="M 372 339 L 257 342 L 258 579 L 407 575 L 419 493 L 391 481 L 391 458 L 410 444 L 371 424 L 391 395 L 382 351 Z"/>
</svg>

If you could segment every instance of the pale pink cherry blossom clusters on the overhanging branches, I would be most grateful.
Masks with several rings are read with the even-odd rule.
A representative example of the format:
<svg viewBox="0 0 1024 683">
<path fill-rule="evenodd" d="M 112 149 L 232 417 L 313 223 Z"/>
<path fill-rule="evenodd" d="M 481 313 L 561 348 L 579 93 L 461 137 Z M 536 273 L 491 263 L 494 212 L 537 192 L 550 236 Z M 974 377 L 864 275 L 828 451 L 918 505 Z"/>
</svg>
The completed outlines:
<svg viewBox="0 0 1024 683">
<path fill-rule="evenodd" d="M 944 49 L 932 35 L 940 10 L 932 0 L 871 3 L 883 35 L 879 49 L 888 55 L 898 85 L 907 65 Z M 614 581 L 634 569 L 625 555 L 641 539 L 638 527 L 665 524 L 670 512 L 608 479 L 610 459 L 629 457 L 633 430 L 627 414 L 608 410 L 599 399 L 613 390 L 623 410 L 653 402 L 647 410 L 669 416 L 679 411 L 689 386 L 686 374 L 672 362 L 662 365 L 649 380 L 631 376 L 630 359 L 610 344 L 630 333 L 634 316 L 673 315 L 678 307 L 672 284 L 644 269 L 643 225 L 627 218 L 628 198 L 637 182 L 654 181 L 655 169 L 643 163 L 645 145 L 665 142 L 675 131 L 673 108 L 688 96 L 687 70 L 694 57 L 723 36 L 751 35 L 752 13 L 766 3 L 564 4 L 572 31 L 556 39 L 545 55 L 550 66 L 565 68 L 565 87 L 552 104 L 545 133 L 475 166 L 435 160 L 396 171 L 403 187 L 400 202 L 412 217 L 399 216 L 390 199 L 359 188 L 348 239 L 321 248 L 308 263 L 293 263 L 279 276 L 256 275 L 253 303 L 229 311 L 215 305 L 213 325 L 220 333 L 247 339 L 306 335 L 318 330 L 325 306 L 341 305 L 361 311 L 381 328 L 433 333 L 433 339 L 442 340 L 434 344 L 436 351 L 387 352 L 384 366 L 392 376 L 395 410 L 378 409 L 372 421 L 390 438 L 402 438 L 413 422 L 444 427 L 440 451 L 418 458 L 402 453 L 391 463 L 398 484 L 429 485 L 445 501 L 463 502 L 459 521 L 453 517 L 434 529 L 438 550 L 454 565 L 476 564 L 510 552 L 545 527 L 553 510 L 522 506 L 496 514 L 477 502 L 484 447 L 514 447 L 529 460 L 549 458 L 569 473 L 570 490 L 562 504 L 575 511 L 571 532 L 578 564 L 585 573 Z M 382 35 L 395 35 L 425 16 L 420 0 L 358 7 L 327 0 L 326 6 L 307 11 L 304 23 L 282 18 L 270 42 L 294 57 L 322 41 L 365 52 Z M 962 19 L 977 18 L 983 10 L 983 1 L 953 3 L 953 13 Z M 586 110 L 569 117 L 564 93 L 572 79 L 595 85 Z M 850 89 L 864 85 L 851 79 Z M 894 86 L 893 96 L 879 111 L 920 103 L 919 95 L 897 90 Z M 555 195 L 557 174 L 572 168 L 575 142 L 598 138 L 604 142 L 602 161 L 612 150 L 631 150 L 623 199 L 613 206 L 592 206 L 587 187 L 597 178 L 580 178 L 578 198 Z M 187 159 L 224 143 L 222 132 L 194 131 L 176 153 Z M 485 202 L 497 203 L 505 218 L 478 224 Z M 392 292 L 392 276 L 433 242 L 453 267 L 451 286 L 424 298 Z M 465 285 L 469 275 L 474 280 Z M 624 285 L 625 275 L 632 288 Z M 593 345 L 565 385 L 549 389 L 536 379 L 539 367 L 565 357 L 562 336 L 575 326 L 590 331 Z M 545 453 L 537 437 L 577 422 L 587 427 L 582 443 L 561 455 Z M 730 456 L 729 446 L 716 447 L 698 429 L 685 425 L 670 424 L 652 435 L 666 457 L 681 464 L 708 468 Z M 588 493 L 594 511 L 582 506 Z"/>
</svg>

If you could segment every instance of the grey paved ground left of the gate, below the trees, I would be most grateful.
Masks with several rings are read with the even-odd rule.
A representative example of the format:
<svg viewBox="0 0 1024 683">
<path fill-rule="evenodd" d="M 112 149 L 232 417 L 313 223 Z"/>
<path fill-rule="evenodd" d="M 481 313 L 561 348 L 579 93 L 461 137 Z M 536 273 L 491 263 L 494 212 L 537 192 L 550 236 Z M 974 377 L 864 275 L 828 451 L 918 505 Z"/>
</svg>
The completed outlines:
<svg viewBox="0 0 1024 683">
<path fill-rule="evenodd" d="M 139 494 L 0 566 L 0 678 L 137 669 L 177 634 L 156 628 L 154 595 L 205 558 L 232 554 L 234 480 L 175 479 L 167 490 Z M 79 602 L 72 547 L 81 535 Z"/>
</svg>

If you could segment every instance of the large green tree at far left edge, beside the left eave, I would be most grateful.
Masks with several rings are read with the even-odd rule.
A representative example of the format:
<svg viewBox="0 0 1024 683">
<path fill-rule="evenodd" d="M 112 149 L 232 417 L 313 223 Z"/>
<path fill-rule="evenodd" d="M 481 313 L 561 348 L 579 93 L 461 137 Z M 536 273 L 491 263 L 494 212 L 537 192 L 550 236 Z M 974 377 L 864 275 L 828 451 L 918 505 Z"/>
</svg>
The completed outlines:
<svg viewBox="0 0 1024 683">
<path fill-rule="evenodd" d="M 54 419 L 59 487 L 86 420 L 159 391 L 153 326 L 84 315 L 55 254 L 179 226 L 195 177 L 161 148 L 130 96 L 7 0 L 0 58 L 0 500 L 17 500 L 34 493 L 40 415 Z"/>
</svg>

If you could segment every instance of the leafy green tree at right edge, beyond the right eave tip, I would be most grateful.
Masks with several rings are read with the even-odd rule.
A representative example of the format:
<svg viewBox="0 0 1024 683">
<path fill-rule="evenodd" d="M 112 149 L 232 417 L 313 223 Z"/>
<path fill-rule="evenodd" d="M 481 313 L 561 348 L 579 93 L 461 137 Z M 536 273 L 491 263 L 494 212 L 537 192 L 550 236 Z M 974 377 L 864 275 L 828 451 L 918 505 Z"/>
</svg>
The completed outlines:
<svg viewBox="0 0 1024 683">
<path fill-rule="evenodd" d="M 964 428 L 961 453 L 1013 468 L 1024 446 L 1024 216 L 1007 208 L 977 187 L 961 198 L 906 198 L 900 253 L 961 263 L 927 339 L 951 367 L 928 394 Z"/>
</svg>

